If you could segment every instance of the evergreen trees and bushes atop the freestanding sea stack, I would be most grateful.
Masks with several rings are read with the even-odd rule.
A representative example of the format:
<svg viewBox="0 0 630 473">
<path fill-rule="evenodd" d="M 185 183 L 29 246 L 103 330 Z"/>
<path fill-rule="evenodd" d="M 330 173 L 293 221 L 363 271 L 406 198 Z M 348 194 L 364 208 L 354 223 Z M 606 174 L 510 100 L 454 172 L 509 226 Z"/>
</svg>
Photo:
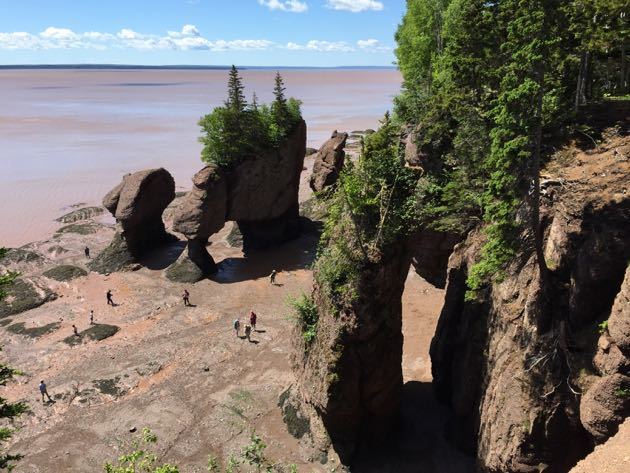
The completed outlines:
<svg viewBox="0 0 630 473">
<path fill-rule="evenodd" d="M 199 120 L 202 161 L 228 168 L 248 156 L 277 148 L 302 119 L 301 103 L 284 97 L 279 73 L 271 106 L 260 105 L 255 94 L 248 105 L 243 90 L 238 70 L 232 66 L 224 105 Z"/>
</svg>

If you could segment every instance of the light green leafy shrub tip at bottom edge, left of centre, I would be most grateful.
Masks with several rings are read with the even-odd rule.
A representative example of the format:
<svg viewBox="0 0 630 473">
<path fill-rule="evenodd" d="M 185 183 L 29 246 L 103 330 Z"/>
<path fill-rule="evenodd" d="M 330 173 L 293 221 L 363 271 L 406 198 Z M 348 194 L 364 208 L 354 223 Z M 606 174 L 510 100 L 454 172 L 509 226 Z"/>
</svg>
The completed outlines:
<svg viewBox="0 0 630 473">
<path fill-rule="evenodd" d="M 116 463 L 107 462 L 104 465 L 106 473 L 179 473 L 177 466 L 168 463 L 159 464 L 158 456 L 152 448 L 157 443 L 157 436 L 148 428 L 144 428 L 140 435 L 134 437 L 124 453 Z"/>
</svg>

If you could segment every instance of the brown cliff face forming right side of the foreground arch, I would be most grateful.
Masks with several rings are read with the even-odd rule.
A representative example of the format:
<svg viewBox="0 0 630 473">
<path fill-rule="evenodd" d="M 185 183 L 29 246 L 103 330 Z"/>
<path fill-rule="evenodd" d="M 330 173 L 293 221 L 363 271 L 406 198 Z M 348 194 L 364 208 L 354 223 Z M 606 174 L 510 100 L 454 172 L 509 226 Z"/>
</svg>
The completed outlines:
<svg viewBox="0 0 630 473">
<path fill-rule="evenodd" d="M 628 401 L 619 396 L 628 381 L 621 350 L 628 320 L 627 283 L 622 287 L 630 259 L 628 165 L 612 152 L 596 158 L 605 172 L 565 176 L 543 202 L 545 277 L 526 249 L 502 282 L 471 300 L 466 278 L 482 234 L 469 235 L 449 260 L 431 345 L 434 387 L 453 409 L 452 439 L 476 454 L 480 471 L 565 472 L 628 415 Z M 597 324 L 609 314 L 614 336 L 598 341 Z M 580 372 L 591 369 L 593 354 L 604 376 L 583 383 Z"/>
</svg>

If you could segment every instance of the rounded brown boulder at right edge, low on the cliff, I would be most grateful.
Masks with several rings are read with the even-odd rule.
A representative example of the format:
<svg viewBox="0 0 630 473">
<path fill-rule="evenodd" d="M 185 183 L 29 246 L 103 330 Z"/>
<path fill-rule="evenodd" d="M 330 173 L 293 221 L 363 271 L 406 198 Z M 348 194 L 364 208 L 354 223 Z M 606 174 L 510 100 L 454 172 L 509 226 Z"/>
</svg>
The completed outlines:
<svg viewBox="0 0 630 473">
<path fill-rule="evenodd" d="M 580 420 L 597 443 L 617 433 L 630 416 L 630 377 L 616 373 L 593 383 L 580 402 Z"/>
</svg>

